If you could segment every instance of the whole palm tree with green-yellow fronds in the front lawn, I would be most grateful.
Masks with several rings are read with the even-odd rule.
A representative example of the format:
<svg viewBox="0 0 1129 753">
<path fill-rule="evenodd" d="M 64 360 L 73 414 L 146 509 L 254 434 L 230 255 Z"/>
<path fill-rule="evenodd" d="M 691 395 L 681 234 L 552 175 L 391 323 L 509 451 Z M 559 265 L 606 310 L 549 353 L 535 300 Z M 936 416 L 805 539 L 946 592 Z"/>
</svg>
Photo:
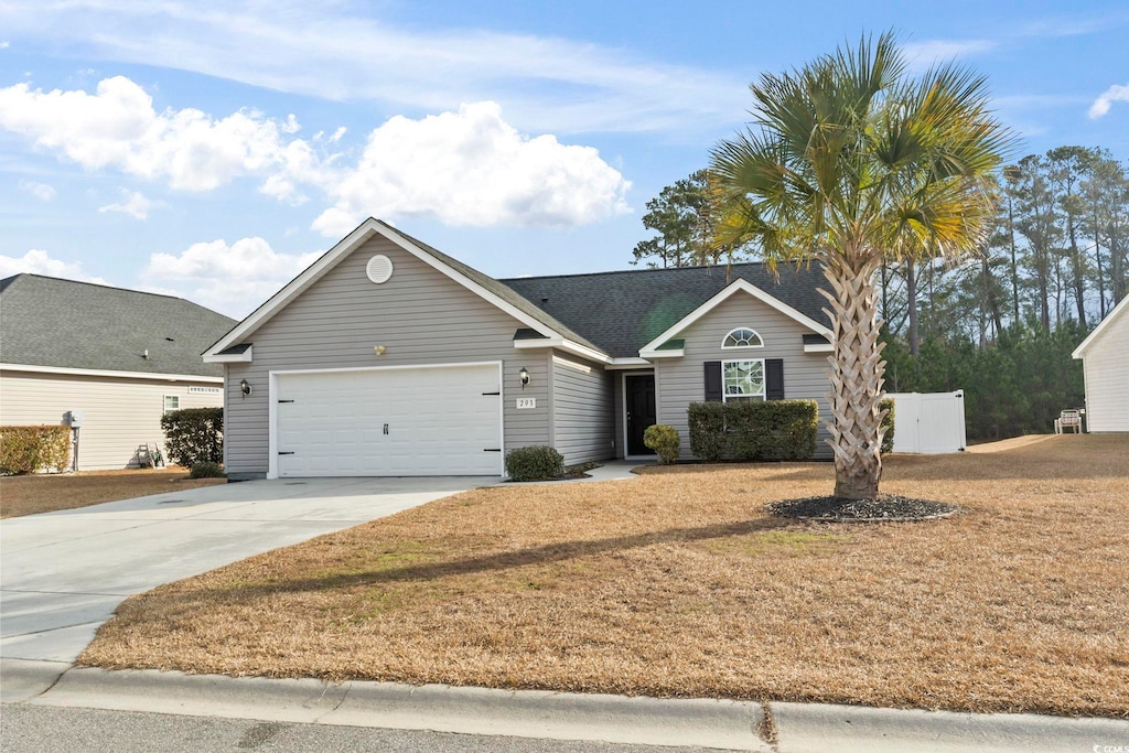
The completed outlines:
<svg viewBox="0 0 1129 753">
<path fill-rule="evenodd" d="M 754 242 L 773 264 L 822 264 L 834 496 L 873 499 L 885 369 L 875 272 L 883 260 L 977 251 L 1012 135 L 982 77 L 952 64 L 911 77 L 890 33 L 750 89 L 752 126 L 711 155 L 726 205 L 717 243 Z"/>
</svg>

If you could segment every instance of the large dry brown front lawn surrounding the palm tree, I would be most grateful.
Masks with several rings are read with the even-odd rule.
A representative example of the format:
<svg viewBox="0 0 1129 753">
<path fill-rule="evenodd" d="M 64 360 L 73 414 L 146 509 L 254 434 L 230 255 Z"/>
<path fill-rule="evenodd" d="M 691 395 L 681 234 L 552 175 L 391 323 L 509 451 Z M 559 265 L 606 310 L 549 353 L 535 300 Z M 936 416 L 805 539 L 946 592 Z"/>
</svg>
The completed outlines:
<svg viewBox="0 0 1129 753">
<path fill-rule="evenodd" d="M 831 482 L 471 491 L 130 598 L 81 663 L 1129 717 L 1129 437 L 889 457 L 945 520 L 763 513 Z"/>
</svg>

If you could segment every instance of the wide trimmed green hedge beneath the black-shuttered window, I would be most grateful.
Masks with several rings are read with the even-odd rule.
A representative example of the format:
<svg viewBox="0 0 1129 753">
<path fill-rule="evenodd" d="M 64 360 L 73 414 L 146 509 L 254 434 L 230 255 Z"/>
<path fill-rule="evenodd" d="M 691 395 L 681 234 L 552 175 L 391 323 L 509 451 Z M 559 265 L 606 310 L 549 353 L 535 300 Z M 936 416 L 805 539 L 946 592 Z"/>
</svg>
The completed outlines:
<svg viewBox="0 0 1129 753">
<path fill-rule="evenodd" d="M 691 403 L 690 452 L 707 462 L 807 461 L 815 455 L 814 400 Z"/>
</svg>

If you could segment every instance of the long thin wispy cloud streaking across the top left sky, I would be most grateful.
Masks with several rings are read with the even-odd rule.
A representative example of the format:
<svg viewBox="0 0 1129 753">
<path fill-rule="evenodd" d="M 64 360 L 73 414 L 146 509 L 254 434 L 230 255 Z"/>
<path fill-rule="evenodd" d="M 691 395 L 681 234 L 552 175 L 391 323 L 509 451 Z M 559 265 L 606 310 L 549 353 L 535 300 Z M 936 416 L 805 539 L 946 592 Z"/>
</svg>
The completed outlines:
<svg viewBox="0 0 1129 753">
<path fill-rule="evenodd" d="M 8 0 L 9 28 L 68 44 L 88 59 L 191 70 L 336 100 L 375 99 L 403 112 L 500 102 L 524 130 L 711 137 L 739 123 L 747 80 L 672 65 L 586 41 L 465 27 L 396 26 L 380 3 L 106 3 Z"/>
</svg>

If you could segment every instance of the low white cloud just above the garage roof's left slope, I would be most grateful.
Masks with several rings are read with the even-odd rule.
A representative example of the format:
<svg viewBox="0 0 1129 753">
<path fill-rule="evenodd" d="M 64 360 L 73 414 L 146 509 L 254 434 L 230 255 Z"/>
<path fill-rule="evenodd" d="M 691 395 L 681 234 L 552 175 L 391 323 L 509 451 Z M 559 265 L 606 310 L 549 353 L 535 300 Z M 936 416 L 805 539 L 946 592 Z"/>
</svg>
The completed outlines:
<svg viewBox="0 0 1129 753">
<path fill-rule="evenodd" d="M 242 318 L 314 263 L 322 252 L 280 254 L 263 238 L 195 243 L 180 254 L 151 254 L 148 284 Z"/>
</svg>

